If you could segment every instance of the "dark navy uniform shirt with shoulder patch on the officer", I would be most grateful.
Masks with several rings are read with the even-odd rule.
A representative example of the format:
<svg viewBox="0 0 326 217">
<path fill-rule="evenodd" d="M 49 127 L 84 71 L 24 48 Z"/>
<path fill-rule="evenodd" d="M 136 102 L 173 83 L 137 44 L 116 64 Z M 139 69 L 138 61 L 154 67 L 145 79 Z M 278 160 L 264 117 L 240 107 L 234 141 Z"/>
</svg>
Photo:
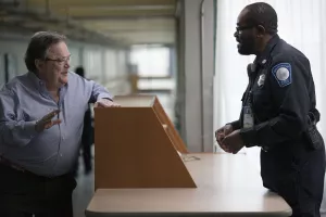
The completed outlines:
<svg viewBox="0 0 326 217">
<path fill-rule="evenodd" d="M 242 105 L 251 104 L 254 126 L 243 128 L 240 119 L 233 123 L 246 146 L 275 145 L 298 140 L 308 128 L 311 112 L 316 122 L 315 87 L 309 60 L 299 50 L 275 35 L 262 55 L 248 66 L 249 86 Z"/>
</svg>

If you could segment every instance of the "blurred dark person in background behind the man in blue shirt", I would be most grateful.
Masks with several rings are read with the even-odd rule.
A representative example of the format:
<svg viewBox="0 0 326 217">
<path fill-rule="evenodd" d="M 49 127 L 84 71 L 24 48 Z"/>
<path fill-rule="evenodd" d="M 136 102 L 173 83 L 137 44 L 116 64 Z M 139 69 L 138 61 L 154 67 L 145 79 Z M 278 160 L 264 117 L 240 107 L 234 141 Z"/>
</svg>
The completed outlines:
<svg viewBox="0 0 326 217">
<path fill-rule="evenodd" d="M 85 72 L 82 66 L 76 68 L 76 74 L 80 77 L 85 77 Z M 84 162 L 84 169 L 85 174 L 89 174 L 91 171 L 91 144 L 93 143 L 92 137 L 93 136 L 93 129 L 91 125 L 91 112 L 90 106 L 88 104 L 88 108 L 84 116 L 84 128 L 82 133 L 82 151 L 83 151 L 83 162 Z M 78 170 L 78 161 L 76 162 L 76 171 Z"/>
</svg>

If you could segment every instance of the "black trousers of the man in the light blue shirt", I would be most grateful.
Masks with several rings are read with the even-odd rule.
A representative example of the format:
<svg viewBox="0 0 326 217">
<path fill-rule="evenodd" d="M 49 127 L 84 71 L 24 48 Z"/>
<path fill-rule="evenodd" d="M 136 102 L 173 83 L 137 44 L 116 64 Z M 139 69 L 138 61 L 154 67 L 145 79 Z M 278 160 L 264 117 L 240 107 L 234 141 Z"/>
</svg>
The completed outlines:
<svg viewBox="0 0 326 217">
<path fill-rule="evenodd" d="M 0 216 L 73 217 L 73 176 L 46 178 L 0 165 Z"/>
</svg>

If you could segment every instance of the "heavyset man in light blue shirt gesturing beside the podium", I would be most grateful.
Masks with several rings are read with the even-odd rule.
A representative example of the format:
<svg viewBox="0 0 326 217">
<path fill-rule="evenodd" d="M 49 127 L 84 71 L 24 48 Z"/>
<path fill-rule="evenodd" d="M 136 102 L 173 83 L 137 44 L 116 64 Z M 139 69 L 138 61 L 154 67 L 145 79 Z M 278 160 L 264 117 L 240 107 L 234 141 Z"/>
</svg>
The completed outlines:
<svg viewBox="0 0 326 217">
<path fill-rule="evenodd" d="M 118 106 L 95 81 L 70 73 L 65 37 L 35 34 L 28 73 L 0 91 L 0 216 L 72 217 L 71 175 L 88 102 Z"/>
</svg>

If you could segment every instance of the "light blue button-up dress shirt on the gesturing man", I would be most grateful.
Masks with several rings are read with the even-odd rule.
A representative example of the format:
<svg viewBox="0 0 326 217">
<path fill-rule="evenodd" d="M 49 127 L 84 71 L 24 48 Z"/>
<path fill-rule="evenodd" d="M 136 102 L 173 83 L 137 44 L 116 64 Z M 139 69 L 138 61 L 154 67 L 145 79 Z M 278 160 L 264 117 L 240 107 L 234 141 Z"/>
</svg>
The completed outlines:
<svg viewBox="0 0 326 217">
<path fill-rule="evenodd" d="M 112 99 L 105 88 L 75 73 L 68 73 L 59 103 L 34 73 L 14 78 L 0 91 L 0 156 L 40 176 L 70 173 L 78 157 L 88 102 L 103 98 Z M 58 108 L 62 123 L 37 132 L 36 120 Z"/>
</svg>

